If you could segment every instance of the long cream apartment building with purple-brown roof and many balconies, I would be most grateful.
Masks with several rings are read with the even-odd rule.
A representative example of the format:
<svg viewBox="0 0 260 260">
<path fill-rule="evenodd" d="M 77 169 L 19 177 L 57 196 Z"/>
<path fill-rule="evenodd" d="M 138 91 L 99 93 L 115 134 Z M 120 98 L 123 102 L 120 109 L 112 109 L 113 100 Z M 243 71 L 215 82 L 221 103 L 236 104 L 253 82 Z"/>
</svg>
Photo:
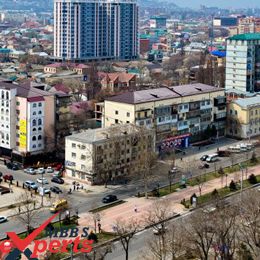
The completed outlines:
<svg viewBox="0 0 260 260">
<path fill-rule="evenodd" d="M 225 134 L 224 89 L 204 84 L 126 92 L 107 98 L 99 107 L 104 127 L 132 123 L 154 129 L 158 150 L 187 147 L 190 138 L 198 140 L 213 125 L 217 136 Z"/>
</svg>

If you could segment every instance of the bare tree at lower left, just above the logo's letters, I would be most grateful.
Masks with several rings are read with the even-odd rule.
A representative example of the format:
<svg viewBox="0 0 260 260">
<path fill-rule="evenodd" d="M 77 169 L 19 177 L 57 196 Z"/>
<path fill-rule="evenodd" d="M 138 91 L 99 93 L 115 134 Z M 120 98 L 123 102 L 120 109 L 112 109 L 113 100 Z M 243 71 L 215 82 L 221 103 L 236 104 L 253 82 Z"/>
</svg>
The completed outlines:
<svg viewBox="0 0 260 260">
<path fill-rule="evenodd" d="M 35 210 L 36 200 L 32 199 L 32 193 L 27 190 L 17 199 L 22 201 L 22 204 L 15 209 L 16 218 L 26 227 L 29 234 L 39 216 L 39 209 Z"/>
</svg>

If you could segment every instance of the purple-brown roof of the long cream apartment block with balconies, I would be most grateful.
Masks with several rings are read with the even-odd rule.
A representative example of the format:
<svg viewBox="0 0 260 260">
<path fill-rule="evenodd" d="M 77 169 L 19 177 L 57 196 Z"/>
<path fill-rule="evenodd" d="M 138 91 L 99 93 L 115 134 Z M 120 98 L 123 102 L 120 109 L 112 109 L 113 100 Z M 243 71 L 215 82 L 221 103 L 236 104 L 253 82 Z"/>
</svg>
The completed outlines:
<svg viewBox="0 0 260 260">
<path fill-rule="evenodd" d="M 198 95 L 203 93 L 210 93 L 221 91 L 224 89 L 205 85 L 205 84 L 189 84 L 174 87 L 162 87 L 155 89 L 146 89 L 140 91 L 125 92 L 106 100 L 119 103 L 139 104 L 146 102 L 153 102 L 164 99 L 179 98 L 190 95 Z"/>
</svg>

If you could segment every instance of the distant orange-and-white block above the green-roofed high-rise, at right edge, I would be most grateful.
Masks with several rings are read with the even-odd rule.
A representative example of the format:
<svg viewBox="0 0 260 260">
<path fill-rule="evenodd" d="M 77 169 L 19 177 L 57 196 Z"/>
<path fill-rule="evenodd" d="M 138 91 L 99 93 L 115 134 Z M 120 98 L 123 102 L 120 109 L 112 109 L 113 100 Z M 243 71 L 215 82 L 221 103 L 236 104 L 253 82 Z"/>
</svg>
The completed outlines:
<svg viewBox="0 0 260 260">
<path fill-rule="evenodd" d="M 260 18 L 245 17 L 240 18 L 238 23 L 238 33 L 260 33 Z"/>
</svg>

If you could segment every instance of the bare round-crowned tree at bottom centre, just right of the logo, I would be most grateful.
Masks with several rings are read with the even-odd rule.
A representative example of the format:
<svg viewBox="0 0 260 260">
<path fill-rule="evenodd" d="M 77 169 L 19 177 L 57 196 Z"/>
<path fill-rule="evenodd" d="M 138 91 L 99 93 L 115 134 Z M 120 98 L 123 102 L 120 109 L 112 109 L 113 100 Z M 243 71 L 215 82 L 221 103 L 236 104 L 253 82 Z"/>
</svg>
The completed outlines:
<svg viewBox="0 0 260 260">
<path fill-rule="evenodd" d="M 132 219 L 130 221 L 123 221 L 118 219 L 115 223 L 115 233 L 119 237 L 119 241 L 125 251 L 125 259 L 129 259 L 129 245 L 134 235 L 138 231 L 138 223 Z"/>
</svg>

